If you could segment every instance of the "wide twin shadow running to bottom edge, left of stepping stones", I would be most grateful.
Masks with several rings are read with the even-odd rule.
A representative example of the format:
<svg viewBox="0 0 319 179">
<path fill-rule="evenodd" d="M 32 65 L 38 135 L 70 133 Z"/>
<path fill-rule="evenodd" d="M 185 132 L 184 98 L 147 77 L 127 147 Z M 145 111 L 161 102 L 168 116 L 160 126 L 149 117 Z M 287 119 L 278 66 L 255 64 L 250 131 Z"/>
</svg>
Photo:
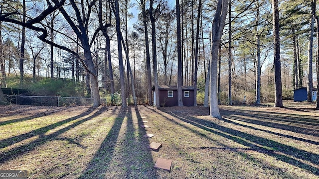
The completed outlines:
<svg viewBox="0 0 319 179">
<path fill-rule="evenodd" d="M 133 120 L 134 115 L 137 117 L 138 129 L 134 126 L 136 124 Z M 127 117 L 127 120 L 124 120 L 125 117 Z M 116 174 L 118 176 L 115 177 L 156 179 L 156 173 L 153 170 L 153 158 L 147 148 L 149 141 L 143 137 L 146 130 L 140 127 L 142 124 L 138 107 L 135 107 L 135 113 L 130 106 L 126 112 L 120 113 L 80 179 L 110 178 L 110 170 L 114 167 L 111 166 L 113 165 L 112 161 L 118 165 L 115 169 L 119 170 Z M 121 127 L 125 125 L 126 129 L 122 129 L 125 130 L 125 135 L 119 136 Z M 119 142 L 120 145 L 117 145 Z"/>
</svg>

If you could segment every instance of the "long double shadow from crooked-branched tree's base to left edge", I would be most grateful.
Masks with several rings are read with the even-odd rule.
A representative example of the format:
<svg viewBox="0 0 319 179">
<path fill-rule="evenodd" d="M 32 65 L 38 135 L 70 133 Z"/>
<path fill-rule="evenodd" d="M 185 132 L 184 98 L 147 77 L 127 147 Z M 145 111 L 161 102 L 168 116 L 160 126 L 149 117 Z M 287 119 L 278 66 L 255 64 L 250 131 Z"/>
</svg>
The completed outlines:
<svg viewBox="0 0 319 179">
<path fill-rule="evenodd" d="M 12 145 L 12 144 L 18 143 L 20 141 L 23 141 L 25 139 L 28 139 L 28 138 L 31 138 L 31 137 L 34 137 L 34 136 L 37 136 L 37 135 L 39 136 L 36 140 L 34 140 L 34 141 L 30 142 L 30 143 L 21 145 L 19 147 L 15 147 L 15 148 L 10 149 L 10 150 L 5 151 L 5 152 L 2 152 L 1 153 L 1 158 L 0 158 L 0 163 L 3 163 L 3 162 L 5 162 L 5 161 L 7 161 L 7 160 L 9 160 L 11 158 L 14 158 L 14 157 L 21 156 L 24 153 L 29 152 L 30 150 L 33 150 L 34 148 L 36 148 L 39 145 L 42 145 L 42 144 L 44 144 L 44 143 L 46 143 L 48 141 L 61 140 L 61 139 L 57 139 L 57 137 L 60 134 L 66 132 L 66 131 L 68 131 L 68 130 L 70 130 L 70 129 L 72 129 L 72 128 L 74 128 L 74 127 L 76 127 L 76 126 L 78 126 L 78 125 L 90 120 L 90 119 L 93 119 L 94 117 L 99 116 L 101 113 L 103 113 L 107 109 L 107 107 L 104 106 L 104 107 L 100 108 L 99 110 L 97 110 L 94 114 L 92 114 L 92 115 L 90 115 L 90 116 L 88 116 L 88 117 L 86 117 L 84 119 L 81 119 L 81 120 L 79 120 L 77 122 L 74 122 L 73 124 L 71 124 L 69 126 L 66 126 L 66 127 L 62 128 L 62 129 L 59 129 L 56 132 L 53 132 L 52 134 L 44 135 L 47 131 L 49 131 L 51 129 L 54 129 L 54 128 L 56 128 L 58 126 L 61 126 L 63 124 L 66 124 L 66 123 L 68 123 L 70 121 L 76 120 L 76 119 L 84 117 L 86 115 L 89 115 L 90 113 L 95 111 L 95 109 L 96 108 L 91 107 L 87 111 L 85 111 L 82 114 L 77 115 L 75 117 L 71 117 L 69 119 L 65 119 L 63 121 L 59 121 L 57 123 L 42 127 L 40 129 L 33 130 L 33 131 L 28 132 L 26 134 L 21 134 L 21 135 L 18 135 L 18 136 L 14 136 L 14 137 L 11 137 L 11 138 L 8 138 L 8 139 L 1 140 L 0 141 L 0 147 L 4 148 L 4 147 L 7 147 L 9 145 Z"/>
</svg>

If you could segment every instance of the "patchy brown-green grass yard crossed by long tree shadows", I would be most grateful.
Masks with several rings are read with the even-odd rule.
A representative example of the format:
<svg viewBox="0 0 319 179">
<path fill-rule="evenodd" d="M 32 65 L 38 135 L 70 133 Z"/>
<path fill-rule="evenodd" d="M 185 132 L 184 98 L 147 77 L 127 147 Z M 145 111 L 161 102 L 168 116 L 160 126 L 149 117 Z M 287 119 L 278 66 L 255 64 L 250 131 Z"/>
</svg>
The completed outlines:
<svg viewBox="0 0 319 179">
<path fill-rule="evenodd" d="M 30 179 L 319 179 L 319 111 L 271 105 L 220 106 L 222 119 L 201 106 L 0 106 L 0 170 Z M 158 158 L 173 161 L 170 173 L 154 169 Z"/>
</svg>

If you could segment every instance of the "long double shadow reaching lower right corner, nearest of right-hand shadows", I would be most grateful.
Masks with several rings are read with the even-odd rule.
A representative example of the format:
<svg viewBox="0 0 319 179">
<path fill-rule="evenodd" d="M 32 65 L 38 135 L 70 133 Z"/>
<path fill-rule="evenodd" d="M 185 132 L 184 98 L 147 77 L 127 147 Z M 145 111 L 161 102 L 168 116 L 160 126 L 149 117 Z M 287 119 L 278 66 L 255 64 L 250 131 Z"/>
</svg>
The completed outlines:
<svg viewBox="0 0 319 179">
<path fill-rule="evenodd" d="M 319 175 L 319 168 L 301 162 L 300 160 L 308 161 L 316 166 L 319 165 L 319 155 L 304 150 L 297 149 L 285 144 L 281 144 L 274 140 L 258 137 L 245 132 L 234 130 L 221 126 L 212 121 L 203 120 L 195 117 L 181 117 L 174 114 L 174 117 L 192 124 L 200 129 L 220 135 L 227 139 L 233 140 L 239 144 L 250 147 L 252 150 L 265 153 L 269 156 L 275 157 L 277 160 L 289 163 L 296 167 L 305 169 L 315 175 Z M 216 130 L 217 129 L 217 130 Z M 269 149 L 270 148 L 270 149 Z M 297 160 L 300 159 L 300 160 Z"/>
</svg>

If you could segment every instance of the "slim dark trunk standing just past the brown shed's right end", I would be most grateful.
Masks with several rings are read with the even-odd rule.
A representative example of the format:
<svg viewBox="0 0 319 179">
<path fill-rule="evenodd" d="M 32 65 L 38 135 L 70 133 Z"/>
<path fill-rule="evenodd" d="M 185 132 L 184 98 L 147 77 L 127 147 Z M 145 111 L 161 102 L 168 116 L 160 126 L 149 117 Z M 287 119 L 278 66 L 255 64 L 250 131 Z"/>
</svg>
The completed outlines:
<svg viewBox="0 0 319 179">
<path fill-rule="evenodd" d="M 198 2 L 197 24 L 196 24 L 196 44 L 195 44 L 195 69 L 194 69 L 194 106 L 197 106 L 197 70 L 198 70 L 198 43 L 199 43 L 199 23 L 201 14 L 201 0 Z"/>
</svg>

